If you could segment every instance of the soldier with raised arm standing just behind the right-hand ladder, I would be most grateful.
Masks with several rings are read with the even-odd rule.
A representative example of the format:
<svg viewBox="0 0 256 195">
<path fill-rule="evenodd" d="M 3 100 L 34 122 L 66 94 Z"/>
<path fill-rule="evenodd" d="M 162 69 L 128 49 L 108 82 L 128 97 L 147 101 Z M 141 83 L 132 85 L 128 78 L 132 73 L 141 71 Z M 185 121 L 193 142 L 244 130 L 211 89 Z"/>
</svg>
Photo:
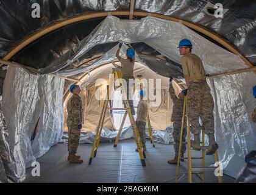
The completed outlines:
<svg viewBox="0 0 256 195">
<path fill-rule="evenodd" d="M 179 94 L 179 98 L 177 98 L 174 88 L 172 87 L 172 77 L 169 79 L 169 93 L 173 102 L 172 107 L 172 115 L 171 115 L 171 121 L 173 122 L 173 132 L 172 137 L 174 138 L 174 151 L 175 151 L 175 157 L 172 160 L 168 160 L 169 164 L 176 165 L 178 160 L 178 154 L 179 154 L 179 143 L 180 143 L 180 130 L 182 127 L 182 114 L 183 114 L 183 104 L 184 99 L 182 93 L 185 93 L 185 91 L 182 91 L 182 93 Z M 186 121 L 186 119 L 184 119 Z M 185 123 L 184 123 L 185 124 Z M 182 134 L 182 141 L 186 141 L 186 135 L 187 130 L 184 127 L 183 128 L 183 134 Z M 180 151 L 180 157 L 184 157 L 184 153 L 186 152 L 186 144 L 182 144 L 182 148 Z M 184 161 L 183 159 L 181 161 Z"/>
</svg>

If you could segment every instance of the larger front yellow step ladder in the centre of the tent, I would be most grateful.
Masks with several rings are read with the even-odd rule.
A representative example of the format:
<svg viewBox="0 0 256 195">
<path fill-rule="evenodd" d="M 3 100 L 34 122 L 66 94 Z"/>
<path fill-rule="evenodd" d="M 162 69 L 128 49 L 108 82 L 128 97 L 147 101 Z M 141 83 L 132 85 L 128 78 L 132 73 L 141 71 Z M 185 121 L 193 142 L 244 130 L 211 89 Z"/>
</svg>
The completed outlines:
<svg viewBox="0 0 256 195">
<path fill-rule="evenodd" d="M 133 135 L 134 135 L 134 138 L 135 138 L 135 142 L 137 144 L 138 154 L 140 155 L 140 159 L 141 159 L 141 165 L 146 166 L 146 162 L 145 162 L 146 154 L 143 151 L 143 146 L 142 146 L 142 143 L 141 143 L 141 140 L 140 140 L 140 135 L 139 135 L 139 132 L 138 132 L 138 128 L 136 126 L 135 119 L 132 116 L 129 102 L 126 99 L 126 91 L 124 90 L 124 85 L 123 85 L 123 80 L 122 80 L 122 73 L 118 68 L 113 68 L 112 74 L 110 76 L 110 80 L 109 80 L 110 86 L 107 87 L 107 98 L 105 98 L 105 100 L 104 100 L 104 104 L 103 104 L 102 112 L 101 112 L 101 117 L 99 119 L 99 125 L 98 125 L 97 130 L 96 130 L 96 135 L 95 135 L 95 138 L 94 138 L 94 141 L 93 141 L 93 147 L 91 149 L 91 155 L 90 155 L 90 159 L 89 159 L 88 164 L 91 165 L 91 161 L 93 160 L 93 157 L 96 157 L 96 154 L 97 154 L 99 141 L 101 139 L 101 132 L 102 132 L 104 119 L 105 119 L 105 113 L 107 112 L 107 109 L 108 109 L 108 101 L 109 101 L 109 93 L 110 93 L 109 91 L 112 91 L 113 83 L 115 82 L 115 76 L 118 77 L 121 90 L 123 91 L 122 94 L 124 96 L 124 107 L 125 107 L 125 110 L 126 110 L 125 115 L 128 114 L 129 119 L 130 119 Z M 122 121 L 121 127 L 123 125 L 124 125 L 124 119 Z M 120 134 L 121 131 L 119 130 L 118 133 Z"/>
</svg>

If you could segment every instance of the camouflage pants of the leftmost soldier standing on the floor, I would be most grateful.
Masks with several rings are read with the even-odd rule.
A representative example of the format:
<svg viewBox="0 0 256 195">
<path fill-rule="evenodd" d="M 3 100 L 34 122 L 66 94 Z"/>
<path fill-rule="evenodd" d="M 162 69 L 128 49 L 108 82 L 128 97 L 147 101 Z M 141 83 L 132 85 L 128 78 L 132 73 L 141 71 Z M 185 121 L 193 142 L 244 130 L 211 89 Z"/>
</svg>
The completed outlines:
<svg viewBox="0 0 256 195">
<path fill-rule="evenodd" d="M 68 152 L 76 154 L 81 130 L 77 126 L 68 126 Z"/>
</svg>

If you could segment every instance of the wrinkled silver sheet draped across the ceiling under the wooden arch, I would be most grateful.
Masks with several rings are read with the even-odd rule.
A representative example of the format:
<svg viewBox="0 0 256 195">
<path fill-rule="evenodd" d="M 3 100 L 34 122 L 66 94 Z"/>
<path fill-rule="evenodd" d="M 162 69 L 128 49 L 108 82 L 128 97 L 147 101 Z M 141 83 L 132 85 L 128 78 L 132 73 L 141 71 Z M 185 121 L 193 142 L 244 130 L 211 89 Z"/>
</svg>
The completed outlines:
<svg viewBox="0 0 256 195">
<path fill-rule="evenodd" d="M 97 44 L 116 41 L 123 41 L 124 43 L 144 42 L 156 49 L 160 54 L 176 63 L 180 63 L 177 45 L 182 38 L 193 40 L 193 51 L 200 55 L 207 74 L 246 67 L 246 65 L 243 66 L 244 62 L 239 56 L 201 37 L 181 23 L 151 16 L 142 18 L 140 21 L 129 21 L 115 16 L 108 16 L 99 24 L 97 30 L 93 31 L 87 38 L 80 41 L 75 48 L 62 56 L 63 59 L 68 59 L 65 63 L 60 63 L 62 60 L 57 59 L 52 62 L 51 68 L 40 69 L 37 72 L 40 74 L 57 72 L 72 63 L 76 63 L 79 57 L 90 51 Z M 71 54 L 74 51 L 76 51 L 76 54 L 72 57 Z M 218 60 L 216 60 L 216 56 L 218 56 Z"/>
</svg>

